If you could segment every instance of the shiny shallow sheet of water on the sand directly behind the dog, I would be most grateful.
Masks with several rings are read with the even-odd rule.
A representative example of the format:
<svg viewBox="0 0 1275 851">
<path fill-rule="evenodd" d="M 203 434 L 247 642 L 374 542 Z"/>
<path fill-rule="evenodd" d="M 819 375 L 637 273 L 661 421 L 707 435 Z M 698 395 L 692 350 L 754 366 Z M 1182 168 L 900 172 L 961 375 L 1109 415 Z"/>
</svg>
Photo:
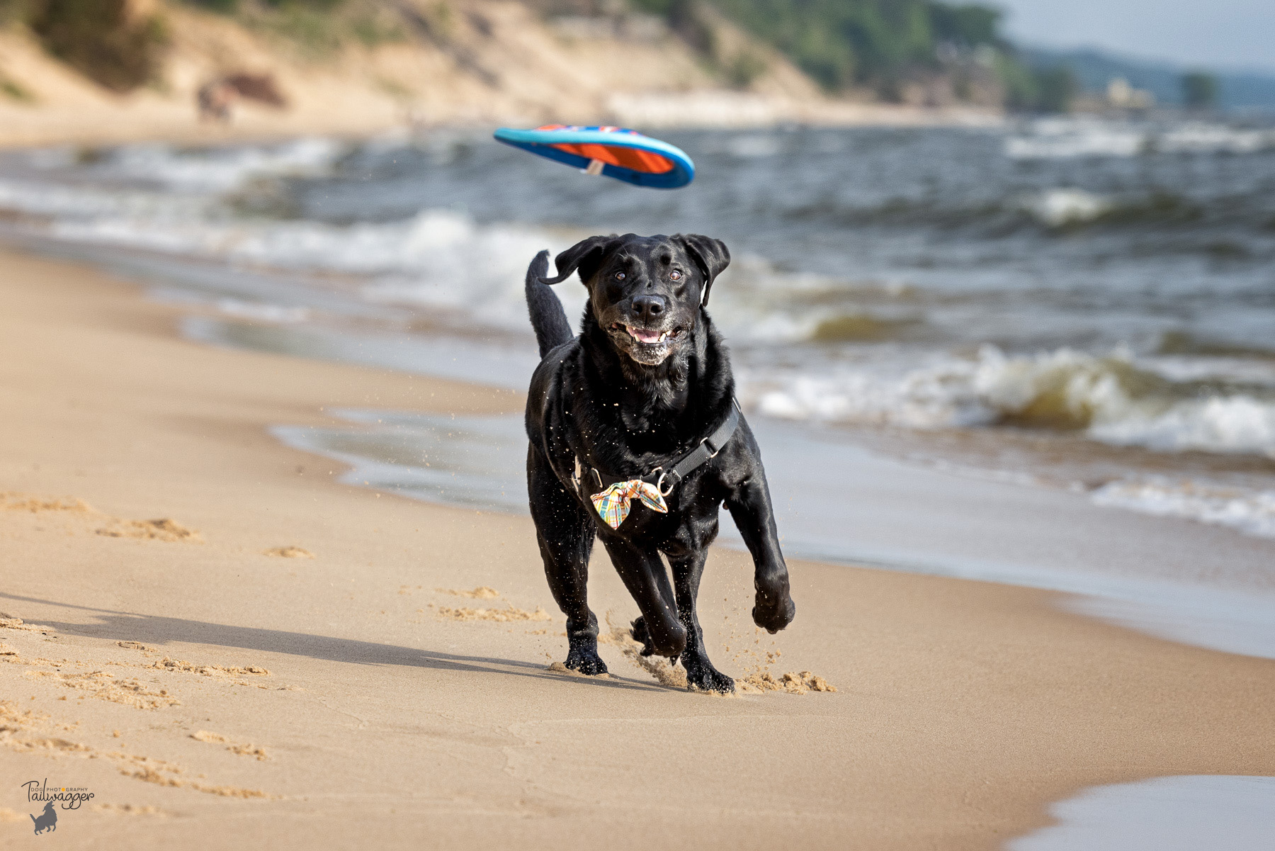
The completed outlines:
<svg viewBox="0 0 1275 851">
<path fill-rule="evenodd" d="M 338 425 L 274 426 L 272 434 L 293 449 L 349 464 L 339 478 L 348 485 L 527 517 L 520 415 L 329 413 Z M 789 558 L 1053 591 L 1066 595 L 1061 607 L 1107 623 L 1275 658 L 1275 596 L 1265 570 L 1270 544 L 1261 538 L 1177 518 L 1130 517 L 1067 489 L 946 475 L 901 453 L 864 452 L 853 440 L 822 435 L 812 443 L 808 434 L 765 417 L 750 425 L 770 463 Z M 808 468 L 813 453 L 822 471 Z M 838 489 L 835 504 L 807 496 Z M 988 513 L 997 519 L 988 523 Z M 717 544 L 746 551 L 732 523 L 723 524 Z"/>
</svg>

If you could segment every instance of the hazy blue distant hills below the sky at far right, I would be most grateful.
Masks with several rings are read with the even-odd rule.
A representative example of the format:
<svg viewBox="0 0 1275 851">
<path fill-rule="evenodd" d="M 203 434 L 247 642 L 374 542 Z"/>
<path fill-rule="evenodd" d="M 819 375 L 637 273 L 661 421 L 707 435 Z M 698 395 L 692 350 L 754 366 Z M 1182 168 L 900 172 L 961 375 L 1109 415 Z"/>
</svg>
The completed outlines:
<svg viewBox="0 0 1275 851">
<path fill-rule="evenodd" d="M 1066 65 L 1085 92 L 1103 92 L 1114 77 L 1123 77 L 1131 85 L 1146 89 L 1164 106 L 1182 105 L 1182 74 L 1200 70 L 1099 50 L 1048 50 L 1031 47 L 1020 51 L 1035 68 Z M 1202 69 L 1209 70 L 1209 69 Z M 1218 73 L 1218 106 L 1223 110 L 1275 110 L 1275 74 Z"/>
</svg>

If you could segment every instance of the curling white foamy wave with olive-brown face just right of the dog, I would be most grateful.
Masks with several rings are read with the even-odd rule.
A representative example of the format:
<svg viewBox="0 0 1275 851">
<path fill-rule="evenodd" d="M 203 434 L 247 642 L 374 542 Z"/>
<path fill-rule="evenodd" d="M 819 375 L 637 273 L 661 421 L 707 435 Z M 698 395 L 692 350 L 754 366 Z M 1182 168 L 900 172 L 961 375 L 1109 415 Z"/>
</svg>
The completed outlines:
<svg viewBox="0 0 1275 851">
<path fill-rule="evenodd" d="M 769 416 L 940 429 L 1015 421 L 1070 427 L 1119 445 L 1275 457 L 1275 401 L 1234 392 L 1179 397 L 1126 353 L 1072 350 L 936 357 L 912 369 L 843 367 L 745 374 L 742 393 Z"/>
</svg>

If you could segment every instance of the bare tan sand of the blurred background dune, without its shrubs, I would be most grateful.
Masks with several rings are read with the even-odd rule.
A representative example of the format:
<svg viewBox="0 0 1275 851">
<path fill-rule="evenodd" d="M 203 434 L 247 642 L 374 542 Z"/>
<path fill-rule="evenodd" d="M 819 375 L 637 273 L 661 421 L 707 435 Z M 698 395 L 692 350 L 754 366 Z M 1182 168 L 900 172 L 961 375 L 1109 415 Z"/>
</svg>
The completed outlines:
<svg viewBox="0 0 1275 851">
<path fill-rule="evenodd" d="M 363 135 L 455 124 L 544 121 L 638 125 L 918 124 L 994 120 L 975 108 L 921 108 L 825 97 L 775 50 L 714 19 L 715 47 L 760 57 L 747 84 L 657 26 L 599 28 L 547 19 L 520 3 L 393 4 L 394 38 L 307 50 L 238 18 L 157 9 L 168 32 L 158 79 L 111 92 L 50 56 L 22 29 L 0 29 L 0 145 L 215 142 L 297 134 Z M 646 19 L 639 19 L 639 23 Z M 646 22 L 650 23 L 650 22 Z M 270 79 L 286 108 L 238 100 L 229 121 L 200 121 L 201 87 L 227 75 Z"/>
</svg>

